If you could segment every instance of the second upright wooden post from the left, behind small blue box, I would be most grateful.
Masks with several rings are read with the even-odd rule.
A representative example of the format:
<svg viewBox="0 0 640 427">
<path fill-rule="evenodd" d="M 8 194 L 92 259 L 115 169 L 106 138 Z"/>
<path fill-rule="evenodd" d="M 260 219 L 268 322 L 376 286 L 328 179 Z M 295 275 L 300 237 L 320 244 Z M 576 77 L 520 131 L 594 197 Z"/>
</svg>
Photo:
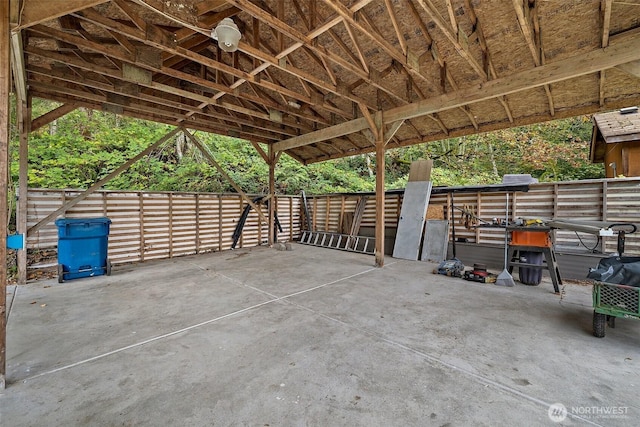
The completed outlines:
<svg viewBox="0 0 640 427">
<path fill-rule="evenodd" d="M 16 209 L 16 230 L 27 237 L 27 200 L 29 167 L 29 132 L 31 123 L 31 99 L 18 99 L 16 105 L 18 127 L 20 129 L 20 166 L 18 171 L 18 206 Z M 27 250 L 18 251 L 18 284 L 27 283 Z"/>
</svg>

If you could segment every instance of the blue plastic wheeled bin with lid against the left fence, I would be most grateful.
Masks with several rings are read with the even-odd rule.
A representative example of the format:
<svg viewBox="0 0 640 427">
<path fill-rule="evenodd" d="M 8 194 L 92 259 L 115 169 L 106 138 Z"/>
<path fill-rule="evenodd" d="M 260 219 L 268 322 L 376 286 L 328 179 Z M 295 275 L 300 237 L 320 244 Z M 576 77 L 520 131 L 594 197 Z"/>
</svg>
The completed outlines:
<svg viewBox="0 0 640 427">
<path fill-rule="evenodd" d="M 80 277 L 111 275 L 107 258 L 111 220 L 102 218 L 59 218 L 58 282 Z"/>
</svg>

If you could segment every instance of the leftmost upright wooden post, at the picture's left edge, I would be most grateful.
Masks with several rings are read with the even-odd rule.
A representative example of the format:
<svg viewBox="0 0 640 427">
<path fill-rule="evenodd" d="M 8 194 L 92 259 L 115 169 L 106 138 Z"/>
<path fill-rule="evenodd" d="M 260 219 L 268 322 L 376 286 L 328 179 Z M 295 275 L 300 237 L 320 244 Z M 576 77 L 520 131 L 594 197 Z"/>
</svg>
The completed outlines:
<svg viewBox="0 0 640 427">
<path fill-rule="evenodd" d="M 9 2 L 0 2 L 0 390 L 6 385 L 7 349 L 7 172 L 9 160 L 9 92 L 11 49 Z"/>
</svg>

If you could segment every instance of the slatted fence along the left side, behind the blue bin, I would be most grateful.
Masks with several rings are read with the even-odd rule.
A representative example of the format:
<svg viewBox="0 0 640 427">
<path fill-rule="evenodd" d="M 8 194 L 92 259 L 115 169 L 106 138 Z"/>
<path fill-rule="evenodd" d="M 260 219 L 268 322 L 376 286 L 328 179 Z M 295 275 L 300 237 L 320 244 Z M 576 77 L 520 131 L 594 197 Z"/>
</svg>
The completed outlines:
<svg viewBox="0 0 640 427">
<path fill-rule="evenodd" d="M 80 192 L 29 189 L 27 226 Z M 230 249 L 245 205 L 237 194 L 97 191 L 69 209 L 65 217 L 110 218 L 109 258 L 115 264 Z M 276 206 L 282 226 L 279 240 L 298 238 L 300 198 L 278 196 Z M 263 212 L 266 215 L 266 207 Z M 53 222 L 47 224 L 27 239 L 27 246 L 55 248 L 57 233 Z M 268 225 L 251 210 L 237 247 L 256 246 L 267 238 Z"/>
</svg>

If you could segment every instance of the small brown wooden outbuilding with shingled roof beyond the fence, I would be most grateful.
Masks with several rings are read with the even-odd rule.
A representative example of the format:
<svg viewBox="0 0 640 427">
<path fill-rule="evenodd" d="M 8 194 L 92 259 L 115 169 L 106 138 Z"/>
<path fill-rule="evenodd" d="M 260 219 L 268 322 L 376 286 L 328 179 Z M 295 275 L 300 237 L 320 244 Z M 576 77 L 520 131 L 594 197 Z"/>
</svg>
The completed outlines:
<svg viewBox="0 0 640 427">
<path fill-rule="evenodd" d="M 607 178 L 640 176 L 640 112 L 638 107 L 593 115 L 589 158 L 604 163 Z"/>
</svg>

